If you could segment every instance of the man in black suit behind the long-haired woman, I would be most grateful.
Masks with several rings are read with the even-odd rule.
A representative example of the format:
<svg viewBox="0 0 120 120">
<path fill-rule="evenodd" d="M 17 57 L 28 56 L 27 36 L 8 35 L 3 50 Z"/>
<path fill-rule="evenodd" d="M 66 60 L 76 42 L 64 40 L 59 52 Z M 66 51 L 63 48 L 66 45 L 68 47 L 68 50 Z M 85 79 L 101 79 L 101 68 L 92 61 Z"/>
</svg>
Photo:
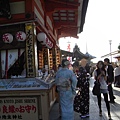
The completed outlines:
<svg viewBox="0 0 120 120">
<path fill-rule="evenodd" d="M 104 64 L 106 66 L 106 71 L 107 71 L 107 84 L 108 84 L 108 91 L 109 91 L 109 98 L 110 98 L 110 103 L 115 103 L 114 99 L 115 96 L 113 95 L 113 88 L 112 88 L 112 83 L 114 81 L 114 68 L 110 64 L 110 60 L 108 58 L 104 59 Z"/>
</svg>

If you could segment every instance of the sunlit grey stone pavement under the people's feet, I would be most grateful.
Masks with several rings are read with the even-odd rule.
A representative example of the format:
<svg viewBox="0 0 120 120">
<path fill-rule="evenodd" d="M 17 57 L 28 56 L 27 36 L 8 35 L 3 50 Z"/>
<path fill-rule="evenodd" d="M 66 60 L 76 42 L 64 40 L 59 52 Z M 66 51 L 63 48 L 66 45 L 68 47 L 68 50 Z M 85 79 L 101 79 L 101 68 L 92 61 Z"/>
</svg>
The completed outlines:
<svg viewBox="0 0 120 120">
<path fill-rule="evenodd" d="M 94 79 L 90 79 L 90 116 L 84 118 L 84 120 L 108 120 L 107 109 L 102 95 L 102 116 L 99 116 L 99 109 L 97 105 L 97 98 L 91 92 L 94 84 Z M 116 97 L 115 103 L 110 104 L 112 120 L 120 120 L 120 88 L 114 87 L 114 95 Z M 55 103 L 50 110 L 50 120 L 59 119 L 59 104 Z M 79 114 L 75 112 L 75 120 L 83 120 L 79 117 Z"/>
</svg>

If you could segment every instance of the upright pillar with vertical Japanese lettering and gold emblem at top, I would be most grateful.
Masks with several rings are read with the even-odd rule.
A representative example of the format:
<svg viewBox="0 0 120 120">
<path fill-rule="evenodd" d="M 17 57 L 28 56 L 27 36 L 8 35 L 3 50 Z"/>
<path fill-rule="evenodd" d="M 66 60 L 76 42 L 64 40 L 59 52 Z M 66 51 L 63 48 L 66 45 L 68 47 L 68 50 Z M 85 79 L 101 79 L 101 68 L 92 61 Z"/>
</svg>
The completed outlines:
<svg viewBox="0 0 120 120">
<path fill-rule="evenodd" d="M 36 77 L 38 75 L 36 27 L 34 23 L 26 23 L 26 75 Z"/>
</svg>

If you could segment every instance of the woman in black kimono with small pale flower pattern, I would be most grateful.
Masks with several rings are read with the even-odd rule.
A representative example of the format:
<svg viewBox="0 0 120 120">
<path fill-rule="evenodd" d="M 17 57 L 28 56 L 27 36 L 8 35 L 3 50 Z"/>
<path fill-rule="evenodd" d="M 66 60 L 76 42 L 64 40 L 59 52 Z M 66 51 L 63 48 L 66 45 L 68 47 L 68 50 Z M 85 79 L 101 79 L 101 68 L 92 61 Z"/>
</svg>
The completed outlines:
<svg viewBox="0 0 120 120">
<path fill-rule="evenodd" d="M 89 78 L 85 69 L 87 60 L 80 61 L 80 68 L 77 74 L 78 93 L 74 99 L 74 110 L 80 113 L 81 118 L 89 117 Z"/>
</svg>

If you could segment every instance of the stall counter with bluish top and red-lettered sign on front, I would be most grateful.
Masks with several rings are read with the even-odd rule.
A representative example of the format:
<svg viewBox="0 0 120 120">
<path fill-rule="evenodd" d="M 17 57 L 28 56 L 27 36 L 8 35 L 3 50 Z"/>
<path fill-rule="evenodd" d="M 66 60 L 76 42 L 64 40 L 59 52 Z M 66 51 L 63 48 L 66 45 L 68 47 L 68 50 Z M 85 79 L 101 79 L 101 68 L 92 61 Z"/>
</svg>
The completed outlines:
<svg viewBox="0 0 120 120">
<path fill-rule="evenodd" d="M 0 79 L 0 120 L 49 120 L 55 100 L 54 81 Z"/>
</svg>

